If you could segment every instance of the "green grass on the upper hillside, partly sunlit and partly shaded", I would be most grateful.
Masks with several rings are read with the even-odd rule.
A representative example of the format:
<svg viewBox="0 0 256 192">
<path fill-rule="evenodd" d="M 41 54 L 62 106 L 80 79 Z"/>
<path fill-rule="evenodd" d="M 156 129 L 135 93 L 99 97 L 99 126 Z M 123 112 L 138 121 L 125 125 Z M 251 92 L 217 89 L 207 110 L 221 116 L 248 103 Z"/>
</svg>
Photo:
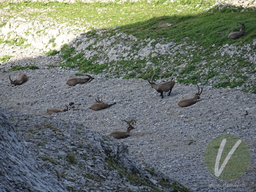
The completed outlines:
<svg viewBox="0 0 256 192">
<path fill-rule="evenodd" d="M 60 56 L 66 61 L 60 65 L 62 67 L 78 67 L 77 70 L 81 73 L 99 74 L 115 66 L 116 74 L 112 77 L 148 79 L 153 73 L 157 73 L 156 79 L 175 76 L 180 83 L 202 82 L 207 84 L 209 80 L 215 78 L 215 87 L 241 86 L 248 80 L 246 76 L 241 76 L 241 69 L 248 68 L 249 74 L 255 71 L 254 64 L 245 62 L 242 58 L 245 51 L 234 57 L 214 53 L 225 44 L 236 44 L 236 46 L 252 44 L 252 40 L 256 39 L 256 11 L 242 7 L 210 9 L 215 3 L 215 0 L 181 0 L 173 3 L 166 0 L 156 0 L 151 3 L 147 1 L 136 3 L 76 2 L 74 4 L 21 2 L 18 4 L 3 3 L 0 4 L 0 8 L 8 9 L 4 18 L 20 15 L 27 20 L 48 24 L 49 27 L 60 26 L 63 23 L 63 28 L 77 26 L 78 35 L 85 33 L 88 38 L 96 38 L 95 43 L 103 38 L 115 36 L 117 32 L 111 29 L 119 25 L 118 33 L 131 34 L 138 39 L 137 42 L 132 42 L 132 49 L 137 49 L 137 45 L 145 39 L 157 39 L 157 42 L 161 44 L 169 42 L 182 44 L 180 50 L 186 50 L 189 55 L 193 55 L 191 58 L 188 58 L 186 54 L 177 54 L 169 57 L 168 55 L 149 57 L 147 60 L 139 61 L 119 60 L 98 65 L 94 63 L 99 60 L 97 55 L 87 60 L 83 53 L 77 54 L 73 47 L 68 47 L 66 44 L 63 45 L 61 52 L 51 50 L 46 53 L 47 55 L 61 53 Z M 34 11 L 30 11 L 31 8 Z M 237 40 L 228 39 L 227 36 L 231 31 L 239 31 L 240 25 L 237 22 L 245 23 L 245 36 Z M 102 32 L 101 36 L 98 36 L 97 31 L 101 29 L 107 29 L 107 32 Z M 52 38 L 51 42 L 53 43 L 54 40 Z M 6 43 L 18 44 L 12 41 Z M 86 49 L 92 50 L 93 48 L 89 46 Z M 153 64 L 142 70 L 148 61 Z M 167 64 L 163 65 L 164 61 Z M 238 63 L 233 66 L 235 61 Z M 185 69 L 176 68 L 184 63 Z M 205 68 L 208 69 L 207 73 Z M 221 79 L 223 74 L 227 78 Z M 248 89 L 252 90 L 252 88 Z"/>
</svg>

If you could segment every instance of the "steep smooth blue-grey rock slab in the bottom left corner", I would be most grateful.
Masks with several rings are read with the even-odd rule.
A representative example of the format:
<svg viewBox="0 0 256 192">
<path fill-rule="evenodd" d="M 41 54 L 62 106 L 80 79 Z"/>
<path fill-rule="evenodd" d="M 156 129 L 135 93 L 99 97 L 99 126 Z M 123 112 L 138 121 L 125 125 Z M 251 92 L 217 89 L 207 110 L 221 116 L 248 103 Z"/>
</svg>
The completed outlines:
<svg viewBox="0 0 256 192">
<path fill-rule="evenodd" d="M 0 183 L 1 191 L 68 191 L 56 175 L 33 158 L 34 151 L 24 148 L 5 111 L 0 108 Z"/>
</svg>

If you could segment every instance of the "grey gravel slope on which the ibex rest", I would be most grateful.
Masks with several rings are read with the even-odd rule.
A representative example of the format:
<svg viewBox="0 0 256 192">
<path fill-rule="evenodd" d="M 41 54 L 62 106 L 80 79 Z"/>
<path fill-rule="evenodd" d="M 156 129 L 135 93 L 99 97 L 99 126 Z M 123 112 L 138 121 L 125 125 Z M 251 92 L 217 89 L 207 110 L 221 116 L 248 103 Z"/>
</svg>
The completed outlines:
<svg viewBox="0 0 256 192">
<path fill-rule="evenodd" d="M 37 58 L 40 59 L 40 58 Z M 41 57 L 42 63 L 48 62 Z M 12 86 L 9 75 L 25 72 L 28 81 Z M 125 129 L 121 120 L 136 121 L 131 137 L 119 140 L 128 146 L 130 156 L 147 163 L 178 180 L 194 191 L 248 191 L 255 185 L 256 95 L 240 91 L 203 87 L 201 99 L 188 108 L 177 103 L 182 97 L 192 97 L 195 85 L 176 84 L 171 96 L 159 97 L 147 81 L 103 78 L 89 84 L 68 86 L 66 80 L 76 71 L 60 68 L 2 73 L 0 105 L 7 112 L 56 117 L 81 123 L 102 135 L 114 129 Z M 166 79 L 167 80 L 167 79 Z M 99 95 L 108 103 L 117 104 L 101 110 L 89 109 Z M 47 108 L 64 108 L 74 102 L 79 110 L 47 114 Z M 72 130 L 70 130 L 72 131 Z M 251 163 L 246 173 L 236 180 L 214 178 L 204 164 L 204 150 L 216 136 L 233 134 L 250 149 Z M 189 145 L 189 143 L 191 143 Z M 238 183 L 245 187 L 210 187 L 211 183 Z"/>
</svg>

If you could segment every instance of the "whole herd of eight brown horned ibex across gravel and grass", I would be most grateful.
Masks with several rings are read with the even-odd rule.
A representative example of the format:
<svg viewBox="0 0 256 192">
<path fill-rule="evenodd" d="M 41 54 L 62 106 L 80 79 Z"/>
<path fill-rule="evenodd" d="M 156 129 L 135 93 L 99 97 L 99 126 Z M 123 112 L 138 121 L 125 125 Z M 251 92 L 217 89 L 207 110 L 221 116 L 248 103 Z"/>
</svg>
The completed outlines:
<svg viewBox="0 0 256 192">
<path fill-rule="evenodd" d="M 228 35 L 228 38 L 238 39 L 238 38 L 244 36 L 244 28 L 245 28 L 244 23 L 241 23 L 241 22 L 237 22 L 237 23 L 239 23 L 241 25 L 240 31 L 231 32 Z M 156 74 L 154 74 L 151 77 L 151 81 L 150 81 L 150 79 L 148 79 L 148 83 L 151 85 L 152 88 L 154 88 L 157 92 L 160 93 L 160 96 L 162 97 L 162 99 L 164 98 L 164 96 L 163 96 L 164 92 L 168 92 L 168 96 L 170 96 L 170 94 L 172 92 L 172 88 L 175 85 L 175 82 L 174 81 L 167 81 L 167 82 L 164 82 L 164 83 L 156 84 L 156 83 L 153 82 L 153 78 L 154 78 L 155 75 Z M 86 76 L 88 76 L 88 77 L 86 77 L 86 78 L 69 77 L 66 84 L 68 84 L 69 86 L 76 86 L 77 84 L 89 83 L 94 79 L 94 77 L 92 77 L 90 75 L 86 75 Z M 28 77 L 27 77 L 26 74 L 22 73 L 14 81 L 11 79 L 11 76 L 9 76 L 9 79 L 11 81 L 11 84 L 16 86 L 16 85 L 21 85 L 21 84 L 25 83 L 28 80 Z M 194 95 L 194 97 L 180 99 L 179 102 L 178 102 L 178 105 L 180 107 L 188 107 L 188 106 L 194 105 L 196 103 L 196 101 L 198 99 L 200 99 L 200 95 L 203 91 L 203 88 L 201 87 L 201 92 L 199 93 L 200 90 L 199 90 L 198 84 L 196 84 L 196 86 L 197 86 L 197 93 Z M 115 102 L 115 103 L 112 103 L 112 104 L 108 105 L 108 103 L 106 101 L 100 100 L 99 96 L 97 97 L 97 99 L 95 99 L 96 102 L 92 103 L 92 105 L 90 107 L 90 109 L 92 109 L 94 111 L 98 111 L 98 110 L 101 110 L 101 109 L 104 109 L 104 108 L 109 108 L 110 106 L 116 104 L 116 102 Z M 73 105 L 73 104 L 74 104 L 73 102 L 69 103 L 69 105 Z M 79 109 L 73 107 L 73 110 L 79 110 Z M 66 105 L 66 108 L 64 108 L 64 109 L 59 109 L 59 108 L 49 108 L 49 109 L 47 109 L 47 112 L 50 115 L 53 114 L 53 113 L 60 113 L 60 112 L 66 112 L 66 111 L 68 111 L 68 106 L 67 105 Z M 127 138 L 127 137 L 130 136 L 130 131 L 135 129 L 135 128 L 132 126 L 131 122 L 126 121 L 126 120 L 122 120 L 122 121 L 124 121 L 128 124 L 126 131 L 114 130 L 109 134 L 109 136 L 114 137 L 116 139 L 124 139 L 124 138 Z"/>
</svg>

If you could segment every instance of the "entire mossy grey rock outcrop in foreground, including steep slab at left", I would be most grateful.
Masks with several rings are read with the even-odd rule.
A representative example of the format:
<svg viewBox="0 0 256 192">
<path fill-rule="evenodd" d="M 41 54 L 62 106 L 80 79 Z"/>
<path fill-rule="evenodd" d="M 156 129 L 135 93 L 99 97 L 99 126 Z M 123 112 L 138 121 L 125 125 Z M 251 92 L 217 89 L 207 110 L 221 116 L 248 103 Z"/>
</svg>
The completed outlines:
<svg viewBox="0 0 256 192">
<path fill-rule="evenodd" d="M 170 191 L 163 183 L 187 190 L 149 166 L 142 168 L 127 146 L 81 124 L 10 116 L 12 123 L 0 108 L 1 191 Z"/>
</svg>

